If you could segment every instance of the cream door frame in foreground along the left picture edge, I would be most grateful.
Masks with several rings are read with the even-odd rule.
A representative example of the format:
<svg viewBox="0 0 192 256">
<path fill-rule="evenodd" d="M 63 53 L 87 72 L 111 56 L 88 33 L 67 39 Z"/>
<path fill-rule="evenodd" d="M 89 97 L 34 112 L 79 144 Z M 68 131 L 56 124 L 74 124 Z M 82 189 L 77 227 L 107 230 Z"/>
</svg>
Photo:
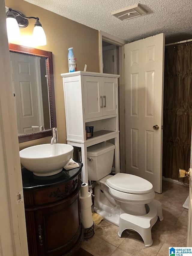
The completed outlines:
<svg viewBox="0 0 192 256">
<path fill-rule="evenodd" d="M 28 256 L 4 1 L 0 2 L 0 254 Z"/>
</svg>

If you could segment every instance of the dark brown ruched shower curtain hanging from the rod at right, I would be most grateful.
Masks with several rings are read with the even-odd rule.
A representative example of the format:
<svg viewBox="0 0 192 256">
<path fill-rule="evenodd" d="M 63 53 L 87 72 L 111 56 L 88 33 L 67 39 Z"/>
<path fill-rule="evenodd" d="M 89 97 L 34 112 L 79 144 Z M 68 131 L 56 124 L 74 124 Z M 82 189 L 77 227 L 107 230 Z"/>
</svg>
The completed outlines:
<svg viewBox="0 0 192 256">
<path fill-rule="evenodd" d="M 188 170 L 192 123 L 192 43 L 165 48 L 163 176 Z"/>
</svg>

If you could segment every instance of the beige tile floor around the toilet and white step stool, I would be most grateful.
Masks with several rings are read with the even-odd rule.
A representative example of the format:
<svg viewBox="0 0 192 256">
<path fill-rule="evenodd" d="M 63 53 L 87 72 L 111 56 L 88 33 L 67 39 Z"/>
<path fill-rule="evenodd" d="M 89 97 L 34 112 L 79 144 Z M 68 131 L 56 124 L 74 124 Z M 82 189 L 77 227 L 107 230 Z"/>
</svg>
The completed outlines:
<svg viewBox="0 0 192 256">
<path fill-rule="evenodd" d="M 94 256 L 164 256 L 169 246 L 186 246 L 187 214 L 182 207 L 188 196 L 189 188 L 183 184 L 163 181 L 163 193 L 155 193 L 155 199 L 162 203 L 164 220 L 152 227 L 153 245 L 145 248 L 140 235 L 133 231 L 124 231 L 117 235 L 118 227 L 103 220 L 95 226 L 95 235 L 83 241 L 85 255 Z"/>
</svg>

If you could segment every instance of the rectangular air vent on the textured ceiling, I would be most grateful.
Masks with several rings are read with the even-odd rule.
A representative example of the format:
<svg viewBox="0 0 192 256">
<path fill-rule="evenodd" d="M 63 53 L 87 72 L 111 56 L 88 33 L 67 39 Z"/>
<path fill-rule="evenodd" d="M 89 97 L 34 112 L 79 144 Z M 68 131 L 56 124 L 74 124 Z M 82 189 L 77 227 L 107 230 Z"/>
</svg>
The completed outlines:
<svg viewBox="0 0 192 256">
<path fill-rule="evenodd" d="M 123 21 L 123 20 L 129 20 L 134 17 L 141 16 L 146 13 L 147 11 L 143 7 L 141 7 L 141 5 L 137 4 L 137 5 L 125 7 L 118 11 L 114 11 L 111 14 L 116 18 L 118 18 L 119 20 Z"/>
</svg>

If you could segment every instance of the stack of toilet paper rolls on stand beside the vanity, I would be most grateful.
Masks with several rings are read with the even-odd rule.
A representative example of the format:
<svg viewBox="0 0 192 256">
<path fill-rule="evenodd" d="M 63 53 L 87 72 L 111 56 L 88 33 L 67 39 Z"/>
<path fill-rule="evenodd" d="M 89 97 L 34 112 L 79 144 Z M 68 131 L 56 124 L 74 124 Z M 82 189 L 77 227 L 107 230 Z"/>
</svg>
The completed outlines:
<svg viewBox="0 0 192 256">
<path fill-rule="evenodd" d="M 80 191 L 80 209 L 81 209 L 81 223 L 84 228 L 89 228 L 93 225 L 92 212 L 91 212 L 91 193 L 88 192 L 88 184 L 82 183 Z"/>
</svg>

